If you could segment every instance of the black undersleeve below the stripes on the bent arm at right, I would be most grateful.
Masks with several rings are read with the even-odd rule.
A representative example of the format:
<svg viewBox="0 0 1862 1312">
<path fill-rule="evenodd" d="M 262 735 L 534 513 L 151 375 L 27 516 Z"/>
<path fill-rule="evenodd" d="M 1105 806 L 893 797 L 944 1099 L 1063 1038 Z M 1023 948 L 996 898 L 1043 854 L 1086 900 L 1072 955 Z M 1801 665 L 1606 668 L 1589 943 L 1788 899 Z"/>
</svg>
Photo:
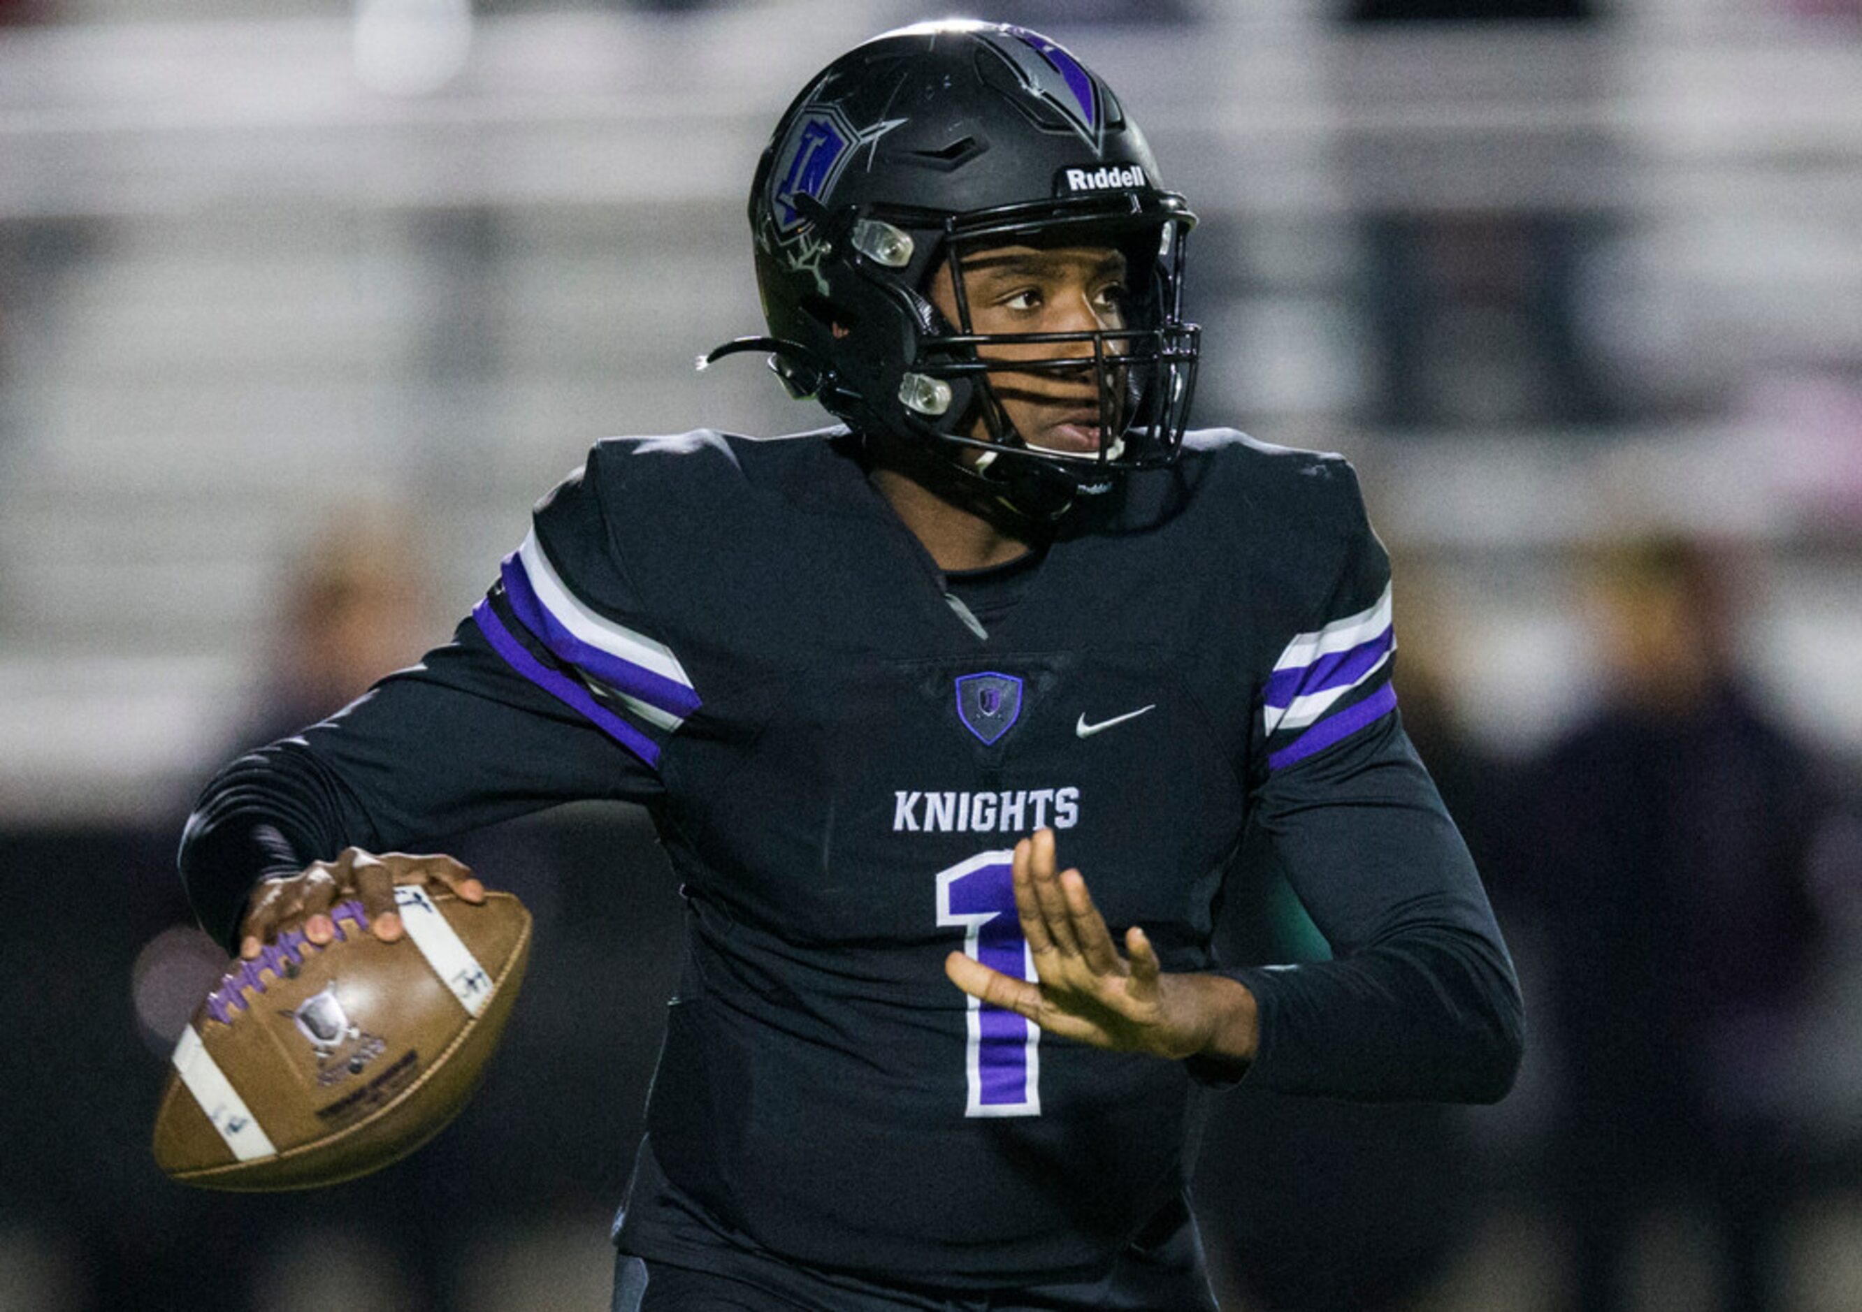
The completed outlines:
<svg viewBox="0 0 1862 1312">
<path fill-rule="evenodd" d="M 1227 971 L 1261 1009 L 1248 1081 L 1361 1102 L 1503 1098 L 1523 1046 L 1519 983 L 1398 716 L 1270 776 L 1253 823 L 1335 958 Z"/>
</svg>

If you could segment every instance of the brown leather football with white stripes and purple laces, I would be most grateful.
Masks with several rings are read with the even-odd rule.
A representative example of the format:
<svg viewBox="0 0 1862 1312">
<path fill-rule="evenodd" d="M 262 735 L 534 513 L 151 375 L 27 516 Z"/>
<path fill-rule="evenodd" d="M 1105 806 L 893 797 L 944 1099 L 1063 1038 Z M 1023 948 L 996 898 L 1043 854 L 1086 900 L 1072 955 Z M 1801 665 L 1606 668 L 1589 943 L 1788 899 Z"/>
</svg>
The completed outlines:
<svg viewBox="0 0 1862 1312">
<path fill-rule="evenodd" d="M 473 906 L 395 888 L 406 934 L 384 944 L 361 903 L 337 936 L 302 930 L 235 960 L 175 1046 L 155 1159 L 205 1189 L 309 1189 L 404 1158 L 471 1098 L 531 953 L 510 893 Z"/>
</svg>

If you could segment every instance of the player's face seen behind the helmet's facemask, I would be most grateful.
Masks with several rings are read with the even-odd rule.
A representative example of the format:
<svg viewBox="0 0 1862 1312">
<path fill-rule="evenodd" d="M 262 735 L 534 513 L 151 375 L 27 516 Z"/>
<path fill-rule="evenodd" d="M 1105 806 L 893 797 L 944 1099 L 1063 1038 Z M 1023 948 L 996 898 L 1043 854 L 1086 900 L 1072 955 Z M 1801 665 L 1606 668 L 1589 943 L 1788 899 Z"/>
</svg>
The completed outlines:
<svg viewBox="0 0 1862 1312">
<path fill-rule="evenodd" d="M 963 292 L 974 333 L 1078 333 L 1125 328 L 1125 255 L 1110 246 L 994 246 L 963 257 Z M 931 281 L 931 301 L 951 324 L 957 294 L 950 262 Z M 985 359 L 1041 361 L 1091 355 L 1091 342 L 1024 342 L 981 348 Z M 1069 370 L 994 370 L 989 387 L 1030 447 L 1093 454 L 1100 448 L 1099 378 Z M 1113 387 L 1115 393 L 1123 387 Z M 1123 422 L 1113 415 L 1113 422 Z M 987 437 L 981 417 L 970 437 Z"/>
</svg>

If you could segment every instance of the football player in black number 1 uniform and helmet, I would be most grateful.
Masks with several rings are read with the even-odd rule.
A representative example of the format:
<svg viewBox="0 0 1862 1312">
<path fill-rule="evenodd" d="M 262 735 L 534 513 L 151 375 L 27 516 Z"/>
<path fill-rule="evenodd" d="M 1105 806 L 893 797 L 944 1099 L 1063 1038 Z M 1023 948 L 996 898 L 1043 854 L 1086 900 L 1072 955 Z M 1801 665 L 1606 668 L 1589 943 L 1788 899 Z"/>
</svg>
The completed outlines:
<svg viewBox="0 0 1862 1312">
<path fill-rule="evenodd" d="M 371 852 L 648 808 L 689 947 L 618 1308 L 1212 1306 L 1199 1083 L 1510 1085 L 1352 469 L 1184 432 L 1194 223 L 1054 41 L 860 45 L 756 169 L 769 335 L 711 355 L 842 422 L 598 443 L 451 646 L 209 785 L 181 865 L 248 957 L 348 895 L 395 936 L 395 880 L 480 895 Z M 1268 864 L 1333 960 L 1212 958 Z"/>
</svg>

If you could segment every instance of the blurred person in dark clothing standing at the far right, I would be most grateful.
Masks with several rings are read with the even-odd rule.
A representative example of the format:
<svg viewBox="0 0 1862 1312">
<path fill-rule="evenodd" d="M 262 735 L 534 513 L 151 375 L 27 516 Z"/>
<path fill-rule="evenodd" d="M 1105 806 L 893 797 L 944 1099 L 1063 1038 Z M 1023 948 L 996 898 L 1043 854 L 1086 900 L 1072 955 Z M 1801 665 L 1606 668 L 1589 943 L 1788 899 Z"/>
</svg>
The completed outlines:
<svg viewBox="0 0 1862 1312">
<path fill-rule="evenodd" d="M 1713 1226 L 1722 1306 L 1778 1306 L 1817 774 L 1735 670 L 1724 560 L 1648 538 L 1586 564 L 1603 700 L 1519 793 L 1562 1051 L 1551 1161 L 1573 1305 L 1627 1306 L 1637 1228 L 1683 1206 Z"/>
</svg>

